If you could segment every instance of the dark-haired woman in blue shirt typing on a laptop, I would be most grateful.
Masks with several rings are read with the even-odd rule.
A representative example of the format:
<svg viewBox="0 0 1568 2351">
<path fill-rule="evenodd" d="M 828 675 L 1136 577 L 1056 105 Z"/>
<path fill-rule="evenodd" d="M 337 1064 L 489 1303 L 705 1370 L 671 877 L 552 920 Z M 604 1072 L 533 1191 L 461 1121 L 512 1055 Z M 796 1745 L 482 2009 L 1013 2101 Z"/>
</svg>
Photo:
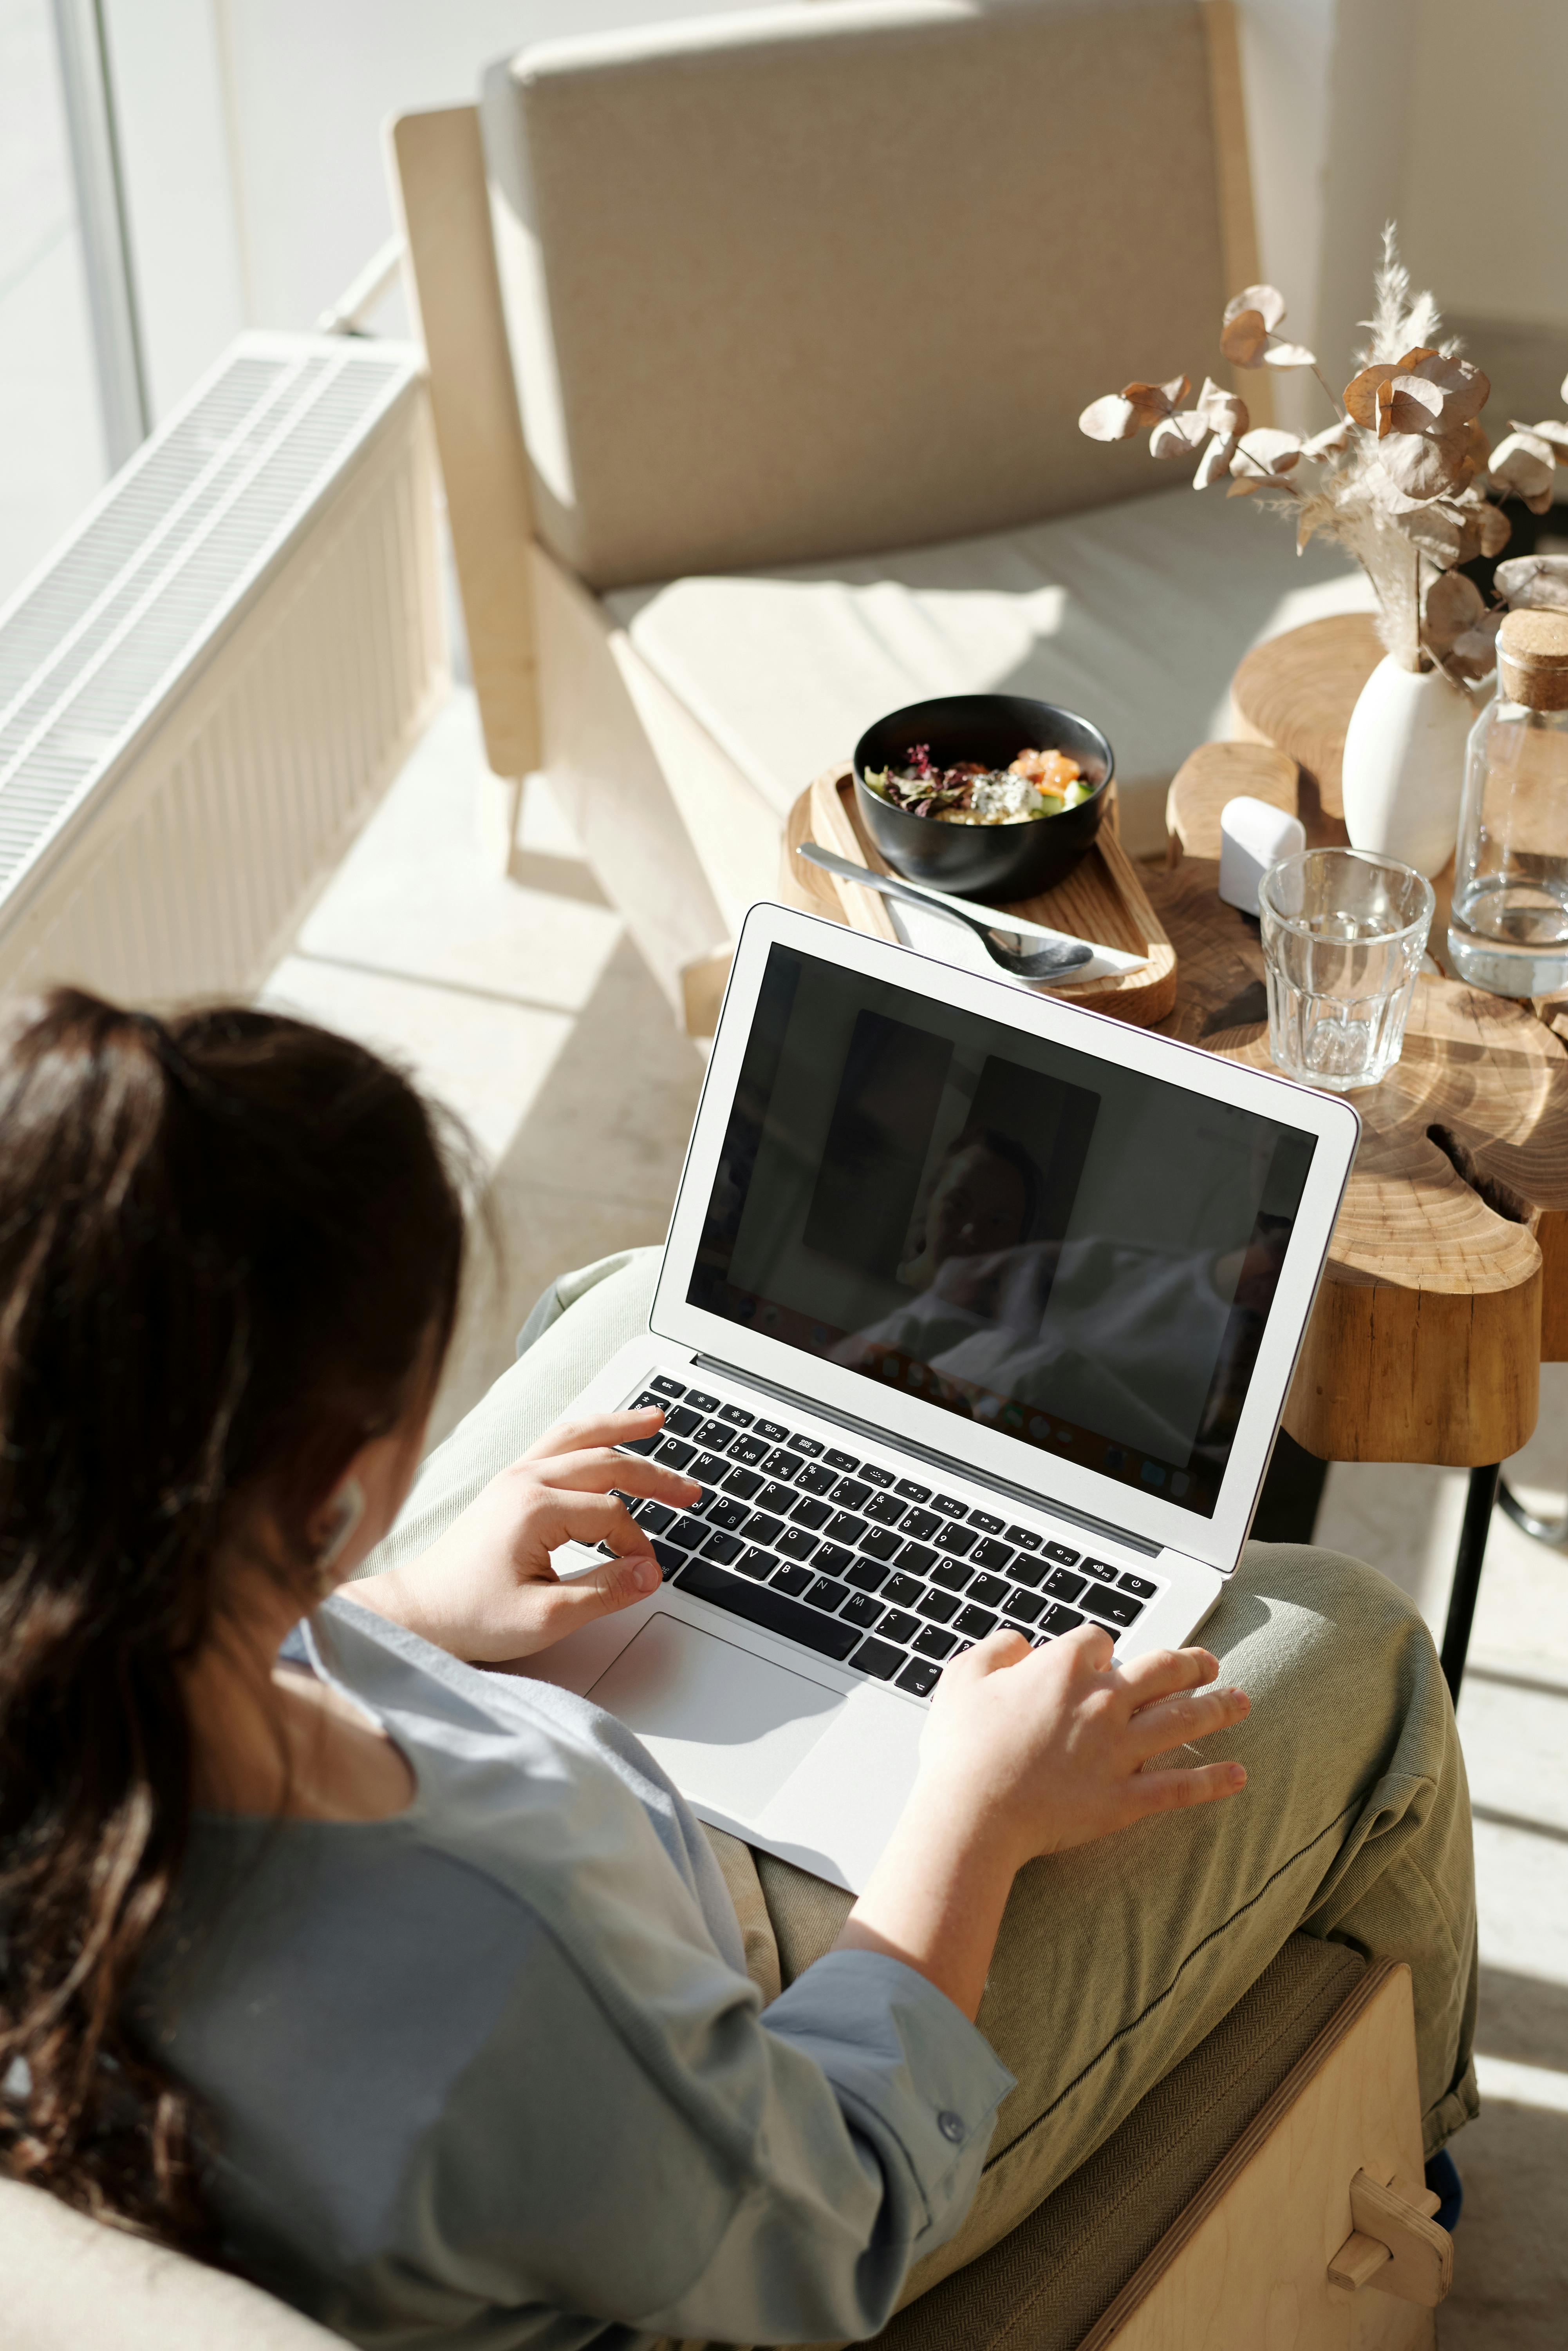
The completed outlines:
<svg viewBox="0 0 1568 2351">
<path fill-rule="evenodd" d="M 1213 1653 L 994 1634 L 858 1902 L 729 1838 L 722 1876 L 637 1740 L 477 1669 L 656 1582 L 611 1491 L 684 1498 L 611 1453 L 654 1418 L 541 1434 L 651 1253 L 545 1305 L 400 1516 L 461 1255 L 362 1049 L 12 1018 L 12 2175 L 360 2342 L 799 2342 L 992 2243 L 1302 1923 L 1410 1961 L 1429 2149 L 1474 2111 L 1465 1782 L 1392 1587 L 1255 1549 Z M 611 1559 L 562 1587 L 569 1535 Z"/>
</svg>

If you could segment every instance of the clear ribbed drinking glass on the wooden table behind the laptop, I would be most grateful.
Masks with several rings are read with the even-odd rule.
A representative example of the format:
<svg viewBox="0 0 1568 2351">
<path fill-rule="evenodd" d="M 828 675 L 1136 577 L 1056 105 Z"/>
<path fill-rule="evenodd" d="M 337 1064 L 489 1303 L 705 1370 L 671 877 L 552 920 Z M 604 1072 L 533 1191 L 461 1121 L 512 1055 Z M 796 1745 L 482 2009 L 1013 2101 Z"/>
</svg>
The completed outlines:
<svg viewBox="0 0 1568 2351">
<path fill-rule="evenodd" d="M 1258 886 L 1269 1056 L 1305 1086 L 1375 1086 L 1399 1060 L 1432 884 L 1363 849 L 1307 849 Z"/>
</svg>

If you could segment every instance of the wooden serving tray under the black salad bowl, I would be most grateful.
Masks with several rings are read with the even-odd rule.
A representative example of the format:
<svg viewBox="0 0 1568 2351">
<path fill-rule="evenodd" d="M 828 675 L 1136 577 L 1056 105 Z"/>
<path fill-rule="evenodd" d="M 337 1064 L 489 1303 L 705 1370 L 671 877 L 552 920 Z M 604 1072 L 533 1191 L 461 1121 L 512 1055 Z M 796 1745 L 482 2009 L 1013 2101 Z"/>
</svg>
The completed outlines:
<svg viewBox="0 0 1568 2351">
<path fill-rule="evenodd" d="M 898 938 L 889 900 L 877 891 L 860 889 L 858 882 L 839 882 L 797 858 L 799 842 L 816 842 L 820 849 L 837 849 L 842 858 L 870 865 L 872 872 L 891 872 L 870 832 L 860 823 L 853 792 L 853 769 L 830 766 L 802 792 L 790 809 L 783 851 L 785 900 L 827 915 L 851 931 L 870 931 L 872 938 Z M 1044 922 L 1053 931 L 1072 931 L 1077 938 L 1093 938 L 1103 947 L 1119 947 L 1124 955 L 1140 955 L 1138 971 L 1121 971 L 1098 980 L 1063 980 L 1051 990 L 1070 1004 L 1088 1004 L 1098 1013 L 1114 1013 L 1117 1020 L 1133 1020 L 1138 1027 L 1154 1027 L 1175 1004 L 1175 947 L 1166 938 L 1159 915 L 1150 905 L 1138 872 L 1114 832 L 1114 804 L 1093 849 L 1072 868 L 1065 882 L 1041 891 L 1037 898 L 1018 898 L 997 912 L 1025 915 Z"/>
</svg>

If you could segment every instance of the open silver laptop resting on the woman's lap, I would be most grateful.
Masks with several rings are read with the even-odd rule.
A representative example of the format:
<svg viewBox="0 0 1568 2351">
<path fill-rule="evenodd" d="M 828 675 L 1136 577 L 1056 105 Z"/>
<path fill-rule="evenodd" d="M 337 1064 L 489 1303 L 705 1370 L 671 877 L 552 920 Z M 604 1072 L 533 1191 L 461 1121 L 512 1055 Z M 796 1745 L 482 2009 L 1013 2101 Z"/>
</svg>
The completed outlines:
<svg viewBox="0 0 1568 2351">
<path fill-rule="evenodd" d="M 663 1585 L 527 1672 L 858 1890 L 997 1625 L 1192 1639 L 1234 1573 L 1361 1121 L 1338 1096 L 755 905 L 649 1331 Z M 562 1575 L 585 1568 L 576 1547 Z"/>
</svg>

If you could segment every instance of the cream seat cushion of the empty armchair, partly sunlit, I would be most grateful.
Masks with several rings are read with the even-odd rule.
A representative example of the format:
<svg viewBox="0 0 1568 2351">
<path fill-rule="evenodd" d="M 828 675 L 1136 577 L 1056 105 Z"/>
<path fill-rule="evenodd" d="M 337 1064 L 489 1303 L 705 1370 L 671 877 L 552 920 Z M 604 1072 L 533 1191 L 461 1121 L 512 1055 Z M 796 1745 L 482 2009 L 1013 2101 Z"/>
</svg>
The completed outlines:
<svg viewBox="0 0 1568 2351">
<path fill-rule="evenodd" d="M 693 576 L 607 600 L 646 665 L 778 818 L 872 719 L 926 694 L 1034 694 L 1117 752 L 1121 837 L 1164 844 L 1164 790 L 1229 734 L 1241 656 L 1371 611 L 1366 574 L 1288 522 L 1190 487 L 853 562 Z"/>
</svg>

